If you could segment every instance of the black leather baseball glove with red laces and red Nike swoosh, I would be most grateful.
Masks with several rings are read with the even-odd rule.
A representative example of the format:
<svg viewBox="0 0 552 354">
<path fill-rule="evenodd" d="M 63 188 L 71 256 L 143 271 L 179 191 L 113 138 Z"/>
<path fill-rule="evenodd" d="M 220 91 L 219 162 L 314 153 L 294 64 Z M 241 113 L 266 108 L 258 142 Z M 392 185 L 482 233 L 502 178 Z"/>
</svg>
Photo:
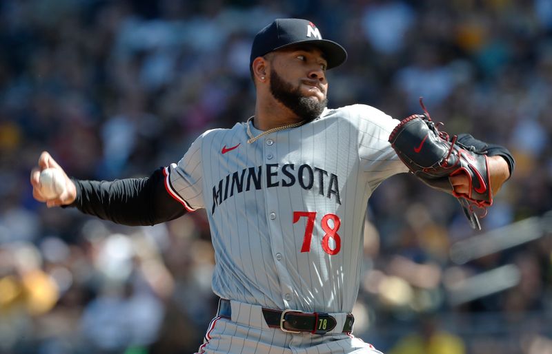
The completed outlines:
<svg viewBox="0 0 552 354">
<path fill-rule="evenodd" d="M 421 101 L 420 101 L 421 103 Z M 424 114 L 404 118 L 389 136 L 389 143 L 410 171 L 432 188 L 453 194 L 473 229 L 481 229 L 480 217 L 493 204 L 487 156 L 457 143 L 457 136 L 440 132 L 422 103 Z M 451 177 L 464 174 L 466 193 L 455 191 Z M 483 212 L 475 214 L 477 207 Z"/>
</svg>

